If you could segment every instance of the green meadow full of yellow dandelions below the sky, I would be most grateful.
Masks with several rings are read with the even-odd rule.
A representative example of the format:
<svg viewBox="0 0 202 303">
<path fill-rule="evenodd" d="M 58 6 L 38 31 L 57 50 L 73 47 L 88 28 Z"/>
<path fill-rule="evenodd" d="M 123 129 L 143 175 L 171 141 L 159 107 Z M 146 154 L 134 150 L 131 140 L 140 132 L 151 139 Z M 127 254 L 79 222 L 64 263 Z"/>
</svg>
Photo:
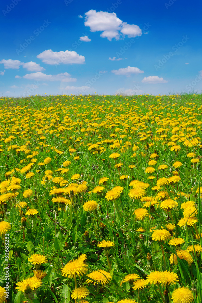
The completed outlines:
<svg viewBox="0 0 202 303">
<path fill-rule="evenodd" d="M 0 99 L 0 303 L 201 303 L 202 95 Z"/>
</svg>

